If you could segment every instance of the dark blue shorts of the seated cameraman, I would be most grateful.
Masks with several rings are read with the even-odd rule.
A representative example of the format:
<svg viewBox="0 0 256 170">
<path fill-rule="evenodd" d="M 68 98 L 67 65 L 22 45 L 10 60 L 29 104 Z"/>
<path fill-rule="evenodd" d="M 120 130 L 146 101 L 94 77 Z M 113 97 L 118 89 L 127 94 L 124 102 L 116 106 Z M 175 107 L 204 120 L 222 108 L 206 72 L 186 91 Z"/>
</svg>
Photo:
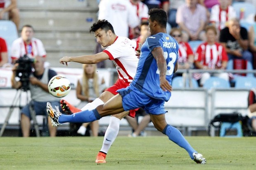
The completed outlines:
<svg viewBox="0 0 256 170">
<path fill-rule="evenodd" d="M 46 103 L 47 102 L 33 101 L 33 103 L 34 103 L 34 110 L 36 112 L 36 115 L 45 115 L 45 116 L 47 116 L 47 112 L 46 112 Z M 50 103 L 51 103 L 52 107 L 59 106 L 59 109 L 61 109 L 61 107 L 59 105 L 59 101 L 54 101 L 54 102 L 50 102 Z M 29 106 L 30 105 L 31 105 L 31 102 L 29 102 L 28 105 L 24 106 L 21 110 L 21 114 L 25 114 L 26 116 L 29 117 L 29 119 L 31 119 L 31 115 L 30 115 L 30 111 L 29 111 Z"/>
</svg>

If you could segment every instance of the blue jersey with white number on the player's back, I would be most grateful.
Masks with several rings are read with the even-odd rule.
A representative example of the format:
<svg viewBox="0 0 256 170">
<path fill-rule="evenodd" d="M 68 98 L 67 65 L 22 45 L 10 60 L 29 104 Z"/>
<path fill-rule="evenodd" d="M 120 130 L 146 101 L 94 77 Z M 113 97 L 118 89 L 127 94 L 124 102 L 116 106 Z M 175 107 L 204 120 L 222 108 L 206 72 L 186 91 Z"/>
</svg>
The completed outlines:
<svg viewBox="0 0 256 170">
<path fill-rule="evenodd" d="M 157 68 L 156 60 L 151 53 L 156 47 L 161 47 L 164 51 L 167 65 L 166 79 L 171 84 L 175 64 L 178 61 L 178 42 L 166 33 L 158 33 L 148 37 L 142 45 L 136 75 L 130 84 L 130 88 L 137 88 L 152 98 L 168 101 L 171 93 L 161 89 L 160 72 Z"/>
</svg>

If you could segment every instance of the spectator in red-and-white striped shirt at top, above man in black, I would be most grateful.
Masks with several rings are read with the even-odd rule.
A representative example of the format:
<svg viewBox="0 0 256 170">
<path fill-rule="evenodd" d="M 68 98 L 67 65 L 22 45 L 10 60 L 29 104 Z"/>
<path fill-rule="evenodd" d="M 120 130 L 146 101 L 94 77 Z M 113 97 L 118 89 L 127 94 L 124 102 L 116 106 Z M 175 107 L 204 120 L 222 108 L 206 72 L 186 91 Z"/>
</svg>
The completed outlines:
<svg viewBox="0 0 256 170">
<path fill-rule="evenodd" d="M 226 27 L 229 19 L 236 18 L 235 9 L 230 5 L 230 0 L 219 0 L 220 4 L 214 5 L 211 9 L 210 22 L 218 30 Z"/>
</svg>

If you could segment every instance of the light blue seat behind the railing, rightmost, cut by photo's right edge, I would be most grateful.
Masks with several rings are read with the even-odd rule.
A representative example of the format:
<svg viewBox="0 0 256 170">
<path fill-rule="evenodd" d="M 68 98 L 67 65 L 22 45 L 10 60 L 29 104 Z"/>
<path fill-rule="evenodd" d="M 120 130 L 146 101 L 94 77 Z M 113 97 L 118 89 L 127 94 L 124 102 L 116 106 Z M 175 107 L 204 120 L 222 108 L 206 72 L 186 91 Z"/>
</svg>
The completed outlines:
<svg viewBox="0 0 256 170">
<path fill-rule="evenodd" d="M 236 77 L 235 88 L 254 88 L 256 87 L 256 78 L 254 77 Z"/>
</svg>

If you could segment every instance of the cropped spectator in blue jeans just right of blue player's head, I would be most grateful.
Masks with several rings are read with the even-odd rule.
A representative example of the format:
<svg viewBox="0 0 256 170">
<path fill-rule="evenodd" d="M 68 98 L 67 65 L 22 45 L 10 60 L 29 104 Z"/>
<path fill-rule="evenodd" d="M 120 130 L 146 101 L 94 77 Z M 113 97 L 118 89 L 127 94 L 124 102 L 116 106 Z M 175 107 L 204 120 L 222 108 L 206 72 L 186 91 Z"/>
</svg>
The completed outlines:
<svg viewBox="0 0 256 170">
<path fill-rule="evenodd" d="M 184 5 L 185 0 L 169 0 L 168 23 L 171 27 L 177 27 L 176 13 L 179 6 Z"/>
</svg>

